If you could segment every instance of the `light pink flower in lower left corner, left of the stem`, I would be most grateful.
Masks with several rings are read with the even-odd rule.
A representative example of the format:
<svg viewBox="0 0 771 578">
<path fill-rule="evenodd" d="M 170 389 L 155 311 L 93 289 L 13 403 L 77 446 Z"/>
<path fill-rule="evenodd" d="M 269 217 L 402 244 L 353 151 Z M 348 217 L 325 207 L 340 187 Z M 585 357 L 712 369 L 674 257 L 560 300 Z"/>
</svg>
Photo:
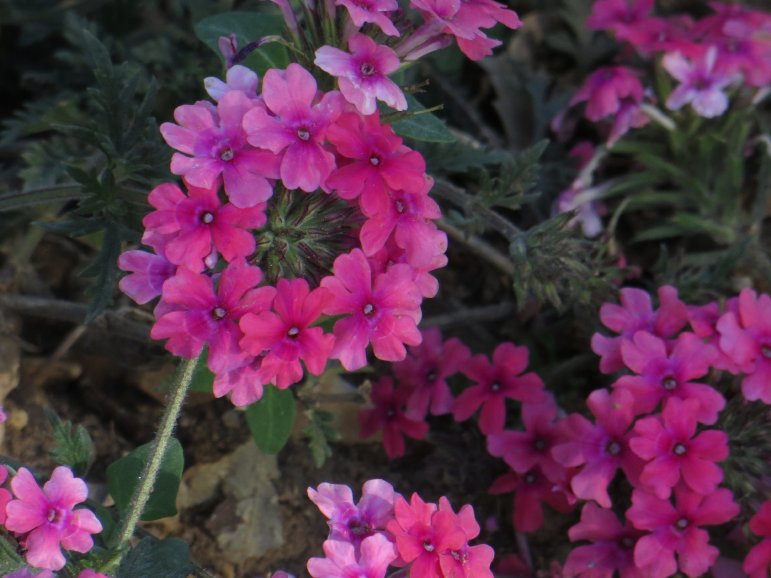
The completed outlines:
<svg viewBox="0 0 771 578">
<path fill-rule="evenodd" d="M 36 568 L 59 570 L 65 559 L 61 548 L 85 554 L 94 545 L 91 534 L 102 531 L 93 512 L 74 507 L 88 497 L 83 480 L 59 466 L 41 489 L 26 468 L 11 480 L 16 496 L 6 506 L 5 527 L 26 534 L 27 562 Z"/>
</svg>

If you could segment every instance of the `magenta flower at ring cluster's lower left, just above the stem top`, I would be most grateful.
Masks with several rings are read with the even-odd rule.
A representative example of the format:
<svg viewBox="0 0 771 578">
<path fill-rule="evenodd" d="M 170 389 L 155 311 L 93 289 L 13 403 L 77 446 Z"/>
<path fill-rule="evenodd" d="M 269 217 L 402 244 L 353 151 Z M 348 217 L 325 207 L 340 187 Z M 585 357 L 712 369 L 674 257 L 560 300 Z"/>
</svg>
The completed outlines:
<svg viewBox="0 0 771 578">
<path fill-rule="evenodd" d="M 276 293 L 273 287 L 256 288 L 261 280 L 259 267 L 235 261 L 222 272 L 215 294 L 211 277 L 180 268 L 163 286 L 163 302 L 171 310 L 158 318 L 150 336 L 168 339 L 166 349 L 188 359 L 208 345 L 215 373 L 240 366 L 245 354 L 238 345 L 238 322 L 246 313 L 269 309 Z"/>
</svg>

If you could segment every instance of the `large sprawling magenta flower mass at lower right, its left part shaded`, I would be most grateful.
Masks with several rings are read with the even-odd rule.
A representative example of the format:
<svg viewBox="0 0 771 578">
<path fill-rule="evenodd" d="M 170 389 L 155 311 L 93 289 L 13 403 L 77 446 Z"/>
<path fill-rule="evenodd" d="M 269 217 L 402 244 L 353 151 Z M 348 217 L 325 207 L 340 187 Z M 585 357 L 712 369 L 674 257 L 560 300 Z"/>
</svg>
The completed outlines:
<svg viewBox="0 0 771 578">
<path fill-rule="evenodd" d="M 589 395 L 589 418 L 565 415 L 535 374 L 523 375 L 525 348 L 501 344 L 491 363 L 484 355 L 471 356 L 457 338 L 443 341 L 431 329 L 404 361 L 393 364 L 396 387 L 389 376 L 374 384 L 375 407 L 362 411 L 362 433 L 383 428 L 393 458 L 404 452 L 402 435 L 426 435 L 429 413 L 462 421 L 481 407 L 487 450 L 509 467 L 489 491 L 514 493 L 517 531 L 542 526 L 544 502 L 559 512 L 585 502 L 570 538 L 589 543 L 571 552 L 560 575 L 700 576 L 719 553 L 703 527 L 732 521 L 740 510 L 721 486 L 729 437 L 717 425 L 726 399 L 708 375 L 734 374 L 732 397 L 740 389 L 744 403 L 769 403 L 765 350 L 771 347 L 771 297 L 745 289 L 723 307 L 696 307 L 665 286 L 658 298 L 654 307 L 647 292 L 624 288 L 620 304 L 601 308 L 603 325 L 615 335 L 596 333 L 592 348 L 601 371 L 616 377 L 609 389 Z M 473 384 L 453 399 L 447 380 L 457 373 Z M 520 402 L 521 429 L 506 427 L 514 421 L 507 397 Z M 628 492 L 610 490 L 614 480 L 619 483 L 619 470 Z M 630 493 L 622 523 L 614 508 L 623 508 L 623 496 Z M 750 526 L 764 538 L 745 562 L 753 578 L 765 575 L 769 565 L 766 510 Z"/>
</svg>

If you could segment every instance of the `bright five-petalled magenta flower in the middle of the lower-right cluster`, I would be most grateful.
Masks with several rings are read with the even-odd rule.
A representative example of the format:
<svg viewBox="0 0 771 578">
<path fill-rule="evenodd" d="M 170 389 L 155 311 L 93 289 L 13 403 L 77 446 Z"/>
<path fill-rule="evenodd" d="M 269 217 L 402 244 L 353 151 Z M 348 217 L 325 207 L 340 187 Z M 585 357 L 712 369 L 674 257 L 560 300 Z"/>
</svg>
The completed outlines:
<svg viewBox="0 0 771 578">
<path fill-rule="evenodd" d="M 723 481 L 715 463 L 728 457 L 728 436 L 718 430 L 696 433 L 698 402 L 671 398 L 661 416 L 638 420 L 629 440 L 632 451 L 647 460 L 640 482 L 659 498 L 668 498 L 681 479 L 697 494 L 707 495 Z"/>
</svg>

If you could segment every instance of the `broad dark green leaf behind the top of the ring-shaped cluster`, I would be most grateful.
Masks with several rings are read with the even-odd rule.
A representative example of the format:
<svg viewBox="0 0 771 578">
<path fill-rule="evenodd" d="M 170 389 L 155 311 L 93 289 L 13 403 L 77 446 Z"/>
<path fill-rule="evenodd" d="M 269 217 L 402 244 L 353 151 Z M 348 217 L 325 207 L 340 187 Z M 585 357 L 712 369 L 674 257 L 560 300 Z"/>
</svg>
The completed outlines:
<svg viewBox="0 0 771 578">
<path fill-rule="evenodd" d="M 278 14 L 225 12 L 198 22 L 195 25 L 195 35 L 221 57 L 217 46 L 221 36 L 235 34 L 238 39 L 238 48 L 242 49 L 250 42 L 276 34 L 283 29 L 283 26 L 284 20 Z M 274 42 L 256 49 L 242 64 L 262 76 L 269 68 L 286 68 L 289 64 L 289 55 L 283 46 Z"/>
</svg>

